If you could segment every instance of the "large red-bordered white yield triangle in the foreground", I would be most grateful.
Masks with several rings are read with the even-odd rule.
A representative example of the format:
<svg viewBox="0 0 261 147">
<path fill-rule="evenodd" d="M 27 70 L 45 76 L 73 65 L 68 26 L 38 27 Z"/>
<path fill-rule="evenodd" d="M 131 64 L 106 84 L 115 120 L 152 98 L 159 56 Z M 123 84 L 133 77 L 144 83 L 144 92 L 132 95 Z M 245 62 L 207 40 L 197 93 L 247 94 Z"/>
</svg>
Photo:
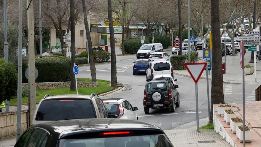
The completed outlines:
<svg viewBox="0 0 261 147">
<path fill-rule="evenodd" d="M 198 80 L 203 73 L 205 67 L 207 66 L 206 62 L 199 62 L 199 63 L 184 63 L 186 69 L 190 73 L 192 79 L 195 83 L 198 83 Z"/>
</svg>

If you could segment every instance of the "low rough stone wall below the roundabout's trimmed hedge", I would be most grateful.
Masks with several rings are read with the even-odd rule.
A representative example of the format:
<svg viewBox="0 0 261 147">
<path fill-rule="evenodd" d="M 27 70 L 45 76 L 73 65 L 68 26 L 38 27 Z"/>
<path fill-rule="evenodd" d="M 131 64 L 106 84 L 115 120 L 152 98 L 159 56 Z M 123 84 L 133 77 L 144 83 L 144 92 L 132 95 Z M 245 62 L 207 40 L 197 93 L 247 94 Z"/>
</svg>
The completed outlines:
<svg viewBox="0 0 261 147">
<path fill-rule="evenodd" d="M 35 83 L 36 89 L 54 89 L 70 87 L 71 82 L 43 82 Z M 98 82 L 77 82 L 78 87 L 97 87 Z M 28 87 L 28 83 L 22 83 L 22 88 Z"/>
</svg>

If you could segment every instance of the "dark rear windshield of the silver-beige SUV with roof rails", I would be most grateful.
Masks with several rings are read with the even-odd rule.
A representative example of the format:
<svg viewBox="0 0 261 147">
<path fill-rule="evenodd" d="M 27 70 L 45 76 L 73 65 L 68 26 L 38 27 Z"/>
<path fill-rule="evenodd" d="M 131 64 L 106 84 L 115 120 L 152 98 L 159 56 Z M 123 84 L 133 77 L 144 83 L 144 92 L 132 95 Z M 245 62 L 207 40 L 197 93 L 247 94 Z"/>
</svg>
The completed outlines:
<svg viewBox="0 0 261 147">
<path fill-rule="evenodd" d="M 45 100 L 36 113 L 36 121 L 96 118 L 93 104 L 85 99 Z"/>
</svg>

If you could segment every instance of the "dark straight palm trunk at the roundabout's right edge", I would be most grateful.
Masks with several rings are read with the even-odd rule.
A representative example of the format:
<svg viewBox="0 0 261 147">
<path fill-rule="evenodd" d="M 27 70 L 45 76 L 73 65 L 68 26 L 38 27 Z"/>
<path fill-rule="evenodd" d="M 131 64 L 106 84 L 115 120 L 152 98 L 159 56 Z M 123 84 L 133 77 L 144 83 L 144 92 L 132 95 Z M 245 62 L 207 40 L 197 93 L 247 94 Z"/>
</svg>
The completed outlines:
<svg viewBox="0 0 261 147">
<path fill-rule="evenodd" d="M 114 30 L 112 23 L 112 0 L 108 0 L 108 18 L 109 29 L 111 38 L 111 87 L 117 88 L 117 67 L 116 67 L 116 54 L 115 54 L 115 42 L 114 42 Z"/>
</svg>

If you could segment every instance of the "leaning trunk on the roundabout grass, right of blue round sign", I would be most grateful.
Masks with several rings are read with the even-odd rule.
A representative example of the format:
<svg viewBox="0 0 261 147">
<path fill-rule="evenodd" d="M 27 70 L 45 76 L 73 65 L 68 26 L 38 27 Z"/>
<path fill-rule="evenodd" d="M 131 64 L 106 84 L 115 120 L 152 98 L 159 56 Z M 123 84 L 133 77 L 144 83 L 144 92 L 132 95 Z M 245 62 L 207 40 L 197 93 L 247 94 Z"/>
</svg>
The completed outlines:
<svg viewBox="0 0 261 147">
<path fill-rule="evenodd" d="M 90 30 L 89 30 L 85 0 L 82 0 L 82 10 L 83 10 L 84 26 L 85 26 L 85 30 L 86 30 L 86 38 L 87 38 L 87 42 L 88 42 L 89 61 L 90 61 L 92 82 L 96 82 L 97 81 L 96 67 L 95 67 L 95 61 L 94 61 L 94 57 L 93 57 L 93 46 L 92 46 L 92 40 L 91 40 L 91 35 L 90 35 Z"/>
</svg>

